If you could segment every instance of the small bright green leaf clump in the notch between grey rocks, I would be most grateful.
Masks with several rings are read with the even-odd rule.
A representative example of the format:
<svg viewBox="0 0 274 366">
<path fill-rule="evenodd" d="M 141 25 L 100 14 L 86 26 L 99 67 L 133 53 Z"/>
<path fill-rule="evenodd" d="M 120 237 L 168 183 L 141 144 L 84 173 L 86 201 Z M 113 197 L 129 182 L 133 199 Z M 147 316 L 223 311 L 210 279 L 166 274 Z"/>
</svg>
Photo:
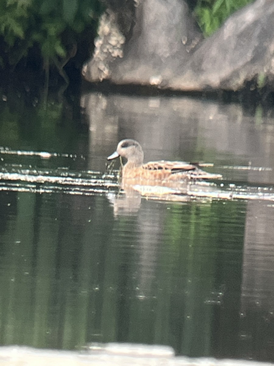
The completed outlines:
<svg viewBox="0 0 274 366">
<path fill-rule="evenodd" d="M 205 36 L 214 33 L 236 10 L 254 0 L 198 0 L 195 14 Z"/>
</svg>

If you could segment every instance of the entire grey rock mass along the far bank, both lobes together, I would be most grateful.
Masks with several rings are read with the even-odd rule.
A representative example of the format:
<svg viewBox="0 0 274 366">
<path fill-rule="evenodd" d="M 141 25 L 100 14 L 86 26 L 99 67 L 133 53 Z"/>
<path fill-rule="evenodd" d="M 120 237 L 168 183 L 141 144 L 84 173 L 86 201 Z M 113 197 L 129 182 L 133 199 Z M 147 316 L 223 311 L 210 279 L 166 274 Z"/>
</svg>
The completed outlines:
<svg viewBox="0 0 274 366">
<path fill-rule="evenodd" d="M 239 90 L 255 79 L 274 89 L 272 0 L 236 12 L 206 40 L 182 0 L 134 5 L 130 11 L 109 8 L 102 16 L 94 55 L 83 67 L 88 81 L 189 91 Z"/>
</svg>

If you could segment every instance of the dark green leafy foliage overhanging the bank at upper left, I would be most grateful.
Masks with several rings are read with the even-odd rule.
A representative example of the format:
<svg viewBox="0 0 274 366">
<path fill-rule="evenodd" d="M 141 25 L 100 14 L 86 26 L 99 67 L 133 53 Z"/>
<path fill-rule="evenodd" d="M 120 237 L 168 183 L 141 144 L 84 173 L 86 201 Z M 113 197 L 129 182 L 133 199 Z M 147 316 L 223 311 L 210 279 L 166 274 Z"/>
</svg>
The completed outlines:
<svg viewBox="0 0 274 366">
<path fill-rule="evenodd" d="M 34 45 L 44 60 L 66 57 L 67 46 L 86 27 L 95 29 L 101 12 L 99 0 L 1 0 L 0 64 L 18 63 Z"/>
</svg>

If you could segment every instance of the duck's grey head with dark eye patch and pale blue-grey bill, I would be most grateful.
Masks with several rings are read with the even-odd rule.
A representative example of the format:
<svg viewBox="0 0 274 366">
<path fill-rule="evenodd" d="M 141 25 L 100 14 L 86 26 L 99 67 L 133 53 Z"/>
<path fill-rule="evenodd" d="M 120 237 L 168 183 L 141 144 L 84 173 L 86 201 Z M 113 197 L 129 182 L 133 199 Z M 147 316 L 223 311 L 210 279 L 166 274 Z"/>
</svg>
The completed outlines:
<svg viewBox="0 0 274 366">
<path fill-rule="evenodd" d="M 118 143 L 116 151 L 107 160 L 118 158 L 119 156 L 128 159 L 129 163 L 136 166 L 141 165 L 144 160 L 144 152 L 139 142 L 132 139 L 125 139 Z"/>
</svg>

